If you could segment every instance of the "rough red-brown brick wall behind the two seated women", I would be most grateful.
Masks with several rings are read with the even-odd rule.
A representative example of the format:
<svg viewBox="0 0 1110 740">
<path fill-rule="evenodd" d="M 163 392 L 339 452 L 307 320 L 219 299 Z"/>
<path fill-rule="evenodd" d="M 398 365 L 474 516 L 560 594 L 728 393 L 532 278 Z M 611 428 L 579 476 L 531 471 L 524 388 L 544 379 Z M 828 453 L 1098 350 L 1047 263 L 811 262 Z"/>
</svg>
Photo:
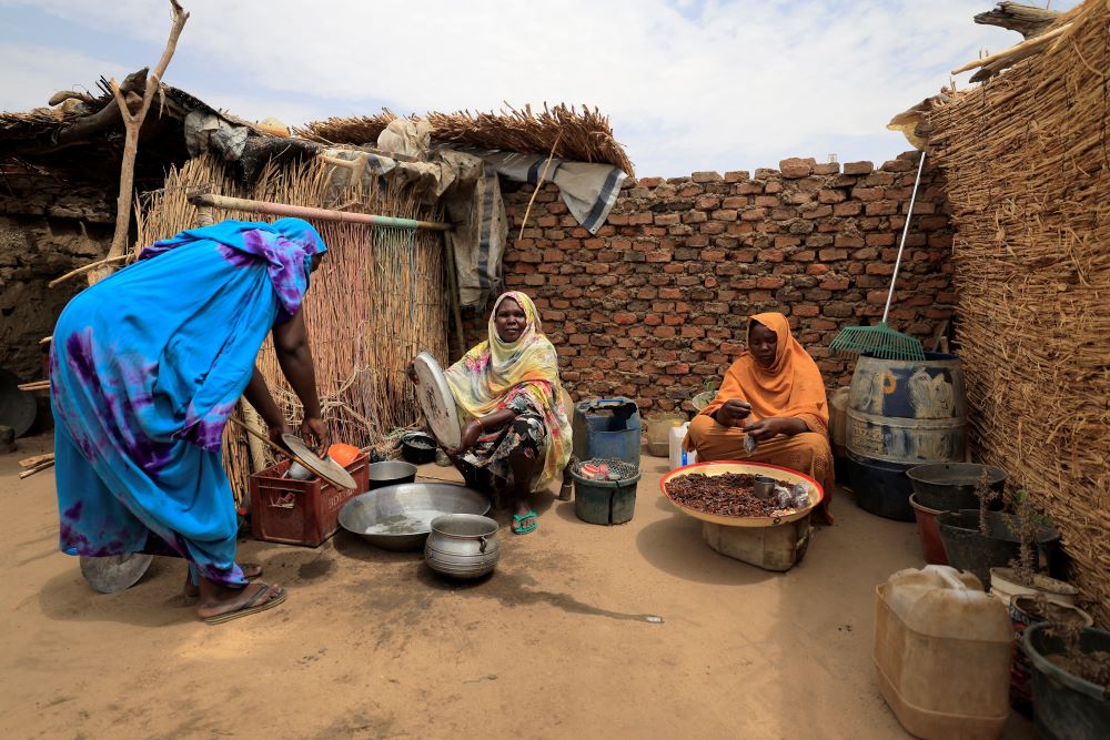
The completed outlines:
<svg viewBox="0 0 1110 740">
<path fill-rule="evenodd" d="M 916 162 L 790 159 L 754 174 L 644 178 L 625 183 L 593 236 L 547 185 L 516 239 L 532 187 L 506 184 L 505 285 L 535 300 L 576 398 L 688 409 L 741 351 L 747 316 L 766 311 L 789 317 L 829 387 L 844 385 L 850 365 L 827 347 L 841 326 L 882 314 Z M 948 212 L 942 174 L 927 166 L 889 318 L 922 338 L 956 301 Z M 467 316 L 468 345 L 485 322 Z"/>
</svg>

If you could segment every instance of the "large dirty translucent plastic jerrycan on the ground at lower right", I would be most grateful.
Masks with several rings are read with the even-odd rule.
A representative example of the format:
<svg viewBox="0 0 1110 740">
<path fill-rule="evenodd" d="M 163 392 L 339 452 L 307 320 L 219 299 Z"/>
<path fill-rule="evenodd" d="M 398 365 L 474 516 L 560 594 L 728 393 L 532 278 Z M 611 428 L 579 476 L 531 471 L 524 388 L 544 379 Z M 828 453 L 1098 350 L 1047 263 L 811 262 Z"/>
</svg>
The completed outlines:
<svg viewBox="0 0 1110 740">
<path fill-rule="evenodd" d="M 969 572 L 908 568 L 876 588 L 879 689 L 918 738 L 993 739 L 1010 713 L 1013 628 Z"/>
</svg>

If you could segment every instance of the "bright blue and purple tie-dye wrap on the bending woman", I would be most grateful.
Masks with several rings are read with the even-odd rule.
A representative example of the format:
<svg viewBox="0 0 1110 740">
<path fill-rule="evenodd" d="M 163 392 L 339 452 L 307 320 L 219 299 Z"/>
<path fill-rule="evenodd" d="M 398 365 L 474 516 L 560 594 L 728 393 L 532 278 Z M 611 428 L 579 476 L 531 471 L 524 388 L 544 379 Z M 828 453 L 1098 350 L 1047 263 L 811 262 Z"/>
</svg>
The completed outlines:
<svg viewBox="0 0 1110 740">
<path fill-rule="evenodd" d="M 300 219 L 224 221 L 154 243 L 65 306 L 50 355 L 61 549 L 135 553 L 153 531 L 199 575 L 245 582 L 220 440 L 325 249 Z"/>
</svg>

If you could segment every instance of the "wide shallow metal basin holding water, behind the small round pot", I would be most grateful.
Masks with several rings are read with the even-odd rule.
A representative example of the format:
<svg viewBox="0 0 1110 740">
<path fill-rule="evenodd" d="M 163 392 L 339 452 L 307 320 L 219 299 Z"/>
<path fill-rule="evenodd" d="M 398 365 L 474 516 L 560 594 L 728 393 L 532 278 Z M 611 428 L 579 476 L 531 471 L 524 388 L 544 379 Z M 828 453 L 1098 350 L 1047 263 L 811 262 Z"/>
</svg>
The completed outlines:
<svg viewBox="0 0 1110 740">
<path fill-rule="evenodd" d="M 490 499 L 450 483 L 404 483 L 360 494 L 340 510 L 340 526 L 385 550 L 424 547 L 432 519 L 444 514 L 485 514 Z"/>
</svg>

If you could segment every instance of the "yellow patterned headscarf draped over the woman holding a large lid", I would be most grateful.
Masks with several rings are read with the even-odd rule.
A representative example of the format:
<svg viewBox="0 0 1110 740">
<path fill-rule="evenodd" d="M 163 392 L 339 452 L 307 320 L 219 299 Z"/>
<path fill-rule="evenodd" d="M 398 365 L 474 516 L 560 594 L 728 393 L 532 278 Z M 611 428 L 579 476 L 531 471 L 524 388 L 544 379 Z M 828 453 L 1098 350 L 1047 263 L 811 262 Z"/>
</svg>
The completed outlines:
<svg viewBox="0 0 1110 740">
<path fill-rule="evenodd" d="M 506 300 L 515 301 L 527 317 L 527 325 L 516 342 L 503 342 L 494 324 L 497 308 Z M 544 469 L 538 481 L 538 487 L 543 487 L 554 480 L 571 459 L 571 423 L 563 408 L 558 356 L 541 331 L 536 305 L 517 291 L 501 294 L 493 304 L 488 337 L 447 368 L 445 375 L 451 395 L 462 416 L 477 418 L 504 407 L 517 394 L 526 394 L 547 430 Z M 466 418 L 461 420 L 465 423 Z"/>
</svg>

